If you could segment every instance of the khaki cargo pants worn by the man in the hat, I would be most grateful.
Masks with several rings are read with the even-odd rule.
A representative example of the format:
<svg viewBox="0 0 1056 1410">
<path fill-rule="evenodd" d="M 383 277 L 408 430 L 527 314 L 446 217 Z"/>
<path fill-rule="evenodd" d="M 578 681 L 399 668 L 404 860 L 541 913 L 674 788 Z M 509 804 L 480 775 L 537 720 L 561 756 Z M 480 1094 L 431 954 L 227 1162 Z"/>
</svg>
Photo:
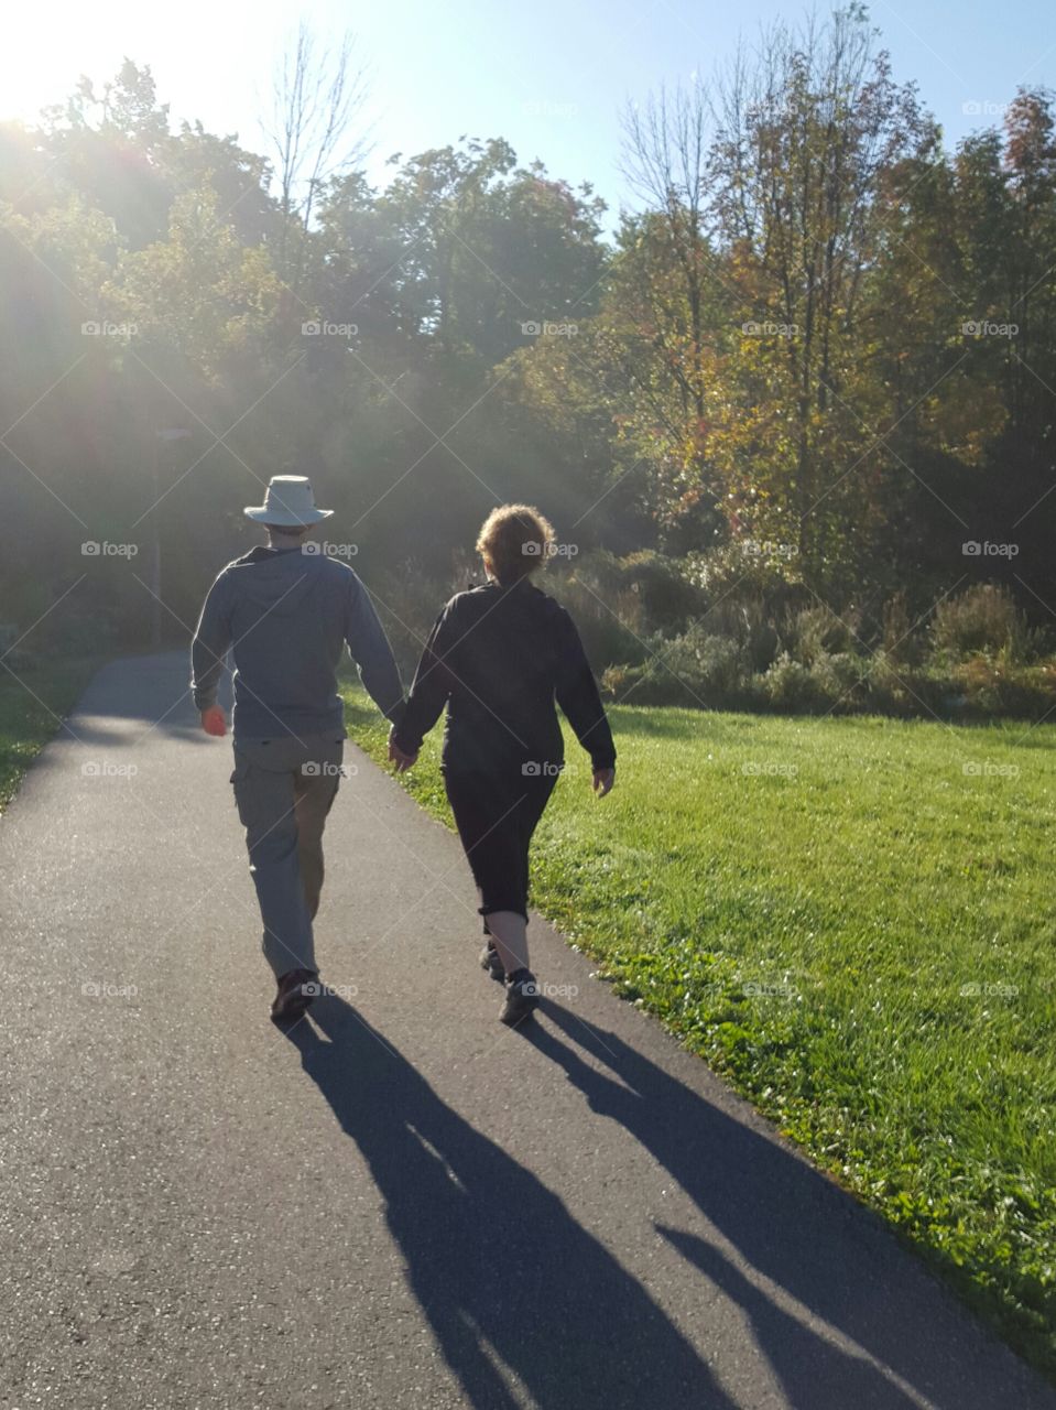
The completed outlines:
<svg viewBox="0 0 1056 1410">
<path fill-rule="evenodd" d="M 323 828 L 341 780 L 344 735 L 237 739 L 234 801 L 276 977 L 319 970 L 312 922 L 323 890 Z"/>
</svg>

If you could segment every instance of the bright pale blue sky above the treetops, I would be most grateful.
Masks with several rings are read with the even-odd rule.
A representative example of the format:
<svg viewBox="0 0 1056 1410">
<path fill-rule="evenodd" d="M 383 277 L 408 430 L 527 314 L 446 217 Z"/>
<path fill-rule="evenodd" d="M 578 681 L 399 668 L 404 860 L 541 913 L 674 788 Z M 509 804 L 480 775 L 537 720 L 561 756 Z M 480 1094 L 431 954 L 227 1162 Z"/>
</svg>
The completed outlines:
<svg viewBox="0 0 1056 1410">
<path fill-rule="evenodd" d="M 950 145 L 995 120 L 1019 83 L 1056 86 L 1052 0 L 876 0 L 870 10 L 895 76 L 919 82 Z M 591 180 L 615 212 L 627 199 L 618 169 L 623 102 L 661 82 L 706 79 L 739 34 L 751 41 L 760 23 L 798 18 L 804 8 L 763 0 L 307 0 L 297 11 L 282 0 L 61 0 L 4 14 L 0 116 L 31 121 L 79 73 L 102 80 L 127 54 L 151 65 L 173 117 L 200 117 L 262 151 L 257 118 L 299 13 L 320 35 L 350 28 L 360 39 L 374 75 L 375 180 L 386 179 L 391 152 L 443 147 L 462 133 L 502 135 L 522 162 L 540 157 L 554 176 Z"/>
</svg>

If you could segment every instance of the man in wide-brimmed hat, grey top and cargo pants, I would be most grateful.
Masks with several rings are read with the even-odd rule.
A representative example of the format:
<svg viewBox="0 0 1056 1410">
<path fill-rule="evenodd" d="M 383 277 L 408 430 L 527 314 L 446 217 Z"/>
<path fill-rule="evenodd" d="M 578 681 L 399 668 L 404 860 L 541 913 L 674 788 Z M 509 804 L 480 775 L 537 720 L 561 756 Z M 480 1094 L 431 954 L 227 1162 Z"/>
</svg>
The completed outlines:
<svg viewBox="0 0 1056 1410">
<path fill-rule="evenodd" d="M 207 735 L 227 721 L 216 688 L 234 651 L 234 798 L 264 921 L 264 955 L 278 979 L 271 1014 L 299 1018 L 317 991 L 312 922 L 323 885 L 323 828 L 344 753 L 337 667 L 345 643 L 378 709 L 403 713 L 392 647 L 352 570 L 307 543 L 317 509 L 302 475 L 276 475 L 245 516 L 268 546 L 230 563 L 202 609 L 190 688 Z"/>
</svg>

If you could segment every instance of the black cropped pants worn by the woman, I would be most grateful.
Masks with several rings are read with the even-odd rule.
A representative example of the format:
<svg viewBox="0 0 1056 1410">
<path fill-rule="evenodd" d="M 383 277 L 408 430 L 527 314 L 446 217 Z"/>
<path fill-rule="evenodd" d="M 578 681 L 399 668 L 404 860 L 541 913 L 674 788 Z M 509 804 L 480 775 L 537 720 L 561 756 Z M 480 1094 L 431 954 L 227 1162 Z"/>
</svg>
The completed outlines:
<svg viewBox="0 0 1056 1410">
<path fill-rule="evenodd" d="M 515 911 L 527 921 L 529 847 L 558 776 L 557 766 L 543 767 L 550 771 L 444 771 L 447 799 L 481 891 L 481 915 Z"/>
</svg>

